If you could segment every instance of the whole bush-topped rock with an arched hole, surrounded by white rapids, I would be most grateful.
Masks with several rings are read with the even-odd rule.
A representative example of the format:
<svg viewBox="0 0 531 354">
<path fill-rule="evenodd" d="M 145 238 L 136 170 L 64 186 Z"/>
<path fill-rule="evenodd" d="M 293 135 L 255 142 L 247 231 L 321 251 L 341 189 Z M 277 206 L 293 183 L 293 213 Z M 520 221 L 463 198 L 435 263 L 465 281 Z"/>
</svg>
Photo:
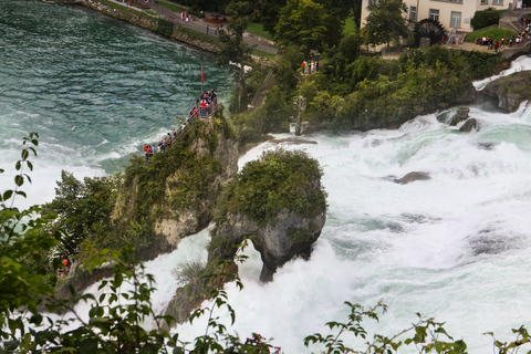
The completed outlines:
<svg viewBox="0 0 531 354">
<path fill-rule="evenodd" d="M 261 281 L 272 281 L 275 270 L 295 257 L 308 259 L 326 220 L 321 176 L 319 163 L 303 152 L 270 150 L 248 163 L 218 198 L 206 269 L 177 290 L 166 314 L 186 321 L 210 296 L 209 287 L 232 280 L 246 239 L 261 254 Z M 205 274 L 216 281 L 207 284 Z"/>
</svg>

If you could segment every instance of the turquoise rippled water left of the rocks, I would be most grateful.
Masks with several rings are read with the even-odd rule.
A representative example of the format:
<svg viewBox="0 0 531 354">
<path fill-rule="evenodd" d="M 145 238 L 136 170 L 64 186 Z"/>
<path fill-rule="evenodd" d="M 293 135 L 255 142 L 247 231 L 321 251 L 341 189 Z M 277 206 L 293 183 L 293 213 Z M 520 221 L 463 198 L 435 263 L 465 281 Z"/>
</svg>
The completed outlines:
<svg viewBox="0 0 531 354">
<path fill-rule="evenodd" d="M 9 175 L 21 138 L 38 132 L 39 202 L 53 197 L 62 168 L 115 173 L 176 126 L 202 90 L 201 65 L 205 90 L 216 87 L 221 102 L 230 94 L 231 73 L 210 53 L 79 6 L 0 8 L 0 166 Z"/>
</svg>

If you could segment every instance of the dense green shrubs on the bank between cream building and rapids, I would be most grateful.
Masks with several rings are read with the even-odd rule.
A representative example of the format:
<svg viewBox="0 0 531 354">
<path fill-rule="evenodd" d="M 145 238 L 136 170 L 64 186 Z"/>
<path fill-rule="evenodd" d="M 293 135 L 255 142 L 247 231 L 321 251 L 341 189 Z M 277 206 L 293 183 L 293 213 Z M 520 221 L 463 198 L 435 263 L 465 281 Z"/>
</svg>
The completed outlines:
<svg viewBox="0 0 531 354">
<path fill-rule="evenodd" d="M 499 62 L 490 53 L 434 45 L 407 51 L 399 61 L 362 58 L 346 64 L 344 54 L 332 50 L 323 65 L 327 80 L 312 75 L 317 93 L 310 95 L 308 114 L 336 129 L 397 126 L 451 104 L 473 80 L 493 74 Z"/>
</svg>

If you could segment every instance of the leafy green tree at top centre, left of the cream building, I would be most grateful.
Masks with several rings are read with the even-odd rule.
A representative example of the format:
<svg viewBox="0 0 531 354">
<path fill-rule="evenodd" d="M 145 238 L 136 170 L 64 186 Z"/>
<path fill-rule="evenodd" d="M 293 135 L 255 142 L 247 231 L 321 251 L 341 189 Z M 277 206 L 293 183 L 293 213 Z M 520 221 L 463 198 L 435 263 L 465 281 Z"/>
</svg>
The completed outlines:
<svg viewBox="0 0 531 354">
<path fill-rule="evenodd" d="M 312 50 L 322 51 L 326 39 L 326 9 L 312 0 L 290 0 L 280 11 L 274 41 L 279 45 L 301 49 L 305 58 Z"/>
</svg>

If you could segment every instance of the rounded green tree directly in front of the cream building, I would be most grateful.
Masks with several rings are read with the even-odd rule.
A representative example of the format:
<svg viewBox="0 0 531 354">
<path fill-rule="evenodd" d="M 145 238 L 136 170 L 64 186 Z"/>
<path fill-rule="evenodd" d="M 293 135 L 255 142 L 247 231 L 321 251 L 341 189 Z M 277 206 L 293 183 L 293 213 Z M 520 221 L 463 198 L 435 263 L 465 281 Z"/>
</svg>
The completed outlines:
<svg viewBox="0 0 531 354">
<path fill-rule="evenodd" d="M 407 37 L 409 30 L 403 13 L 407 12 L 407 6 L 402 0 L 379 0 L 376 4 L 368 6 L 365 27 L 361 37 L 366 45 L 377 45 L 391 41 L 397 41 L 399 37 Z"/>
</svg>

